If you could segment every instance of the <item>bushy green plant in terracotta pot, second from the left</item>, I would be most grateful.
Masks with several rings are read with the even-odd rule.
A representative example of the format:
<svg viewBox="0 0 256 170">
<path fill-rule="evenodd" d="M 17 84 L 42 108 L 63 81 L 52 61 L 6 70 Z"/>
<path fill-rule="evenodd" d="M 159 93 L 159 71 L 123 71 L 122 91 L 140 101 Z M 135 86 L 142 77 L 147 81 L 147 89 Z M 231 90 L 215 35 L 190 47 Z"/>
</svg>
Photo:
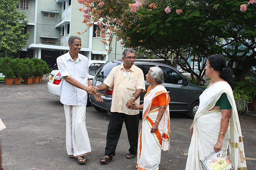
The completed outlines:
<svg viewBox="0 0 256 170">
<path fill-rule="evenodd" d="M 15 58 L 13 60 L 11 60 L 11 65 L 12 65 L 12 69 L 13 69 L 13 73 L 14 73 L 14 79 L 13 79 L 13 83 L 14 84 L 20 84 L 21 82 L 21 77 L 22 77 L 22 73 L 23 73 L 23 64 L 22 64 L 23 60 L 19 59 L 19 58 Z"/>
</svg>

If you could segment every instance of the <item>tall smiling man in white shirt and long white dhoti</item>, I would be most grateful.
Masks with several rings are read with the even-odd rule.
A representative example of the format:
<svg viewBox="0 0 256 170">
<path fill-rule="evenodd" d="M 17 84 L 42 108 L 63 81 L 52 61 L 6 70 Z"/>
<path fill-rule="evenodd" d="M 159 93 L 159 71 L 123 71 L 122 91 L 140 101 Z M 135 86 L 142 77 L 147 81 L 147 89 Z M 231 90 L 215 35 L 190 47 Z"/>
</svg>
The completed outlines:
<svg viewBox="0 0 256 170">
<path fill-rule="evenodd" d="M 63 78 L 60 99 L 66 117 L 67 154 L 85 163 L 84 155 L 91 154 L 91 144 L 85 124 L 87 93 L 94 95 L 96 88 L 88 79 L 88 58 L 80 54 L 81 38 L 69 37 L 69 52 L 57 58 L 58 69 Z"/>
</svg>

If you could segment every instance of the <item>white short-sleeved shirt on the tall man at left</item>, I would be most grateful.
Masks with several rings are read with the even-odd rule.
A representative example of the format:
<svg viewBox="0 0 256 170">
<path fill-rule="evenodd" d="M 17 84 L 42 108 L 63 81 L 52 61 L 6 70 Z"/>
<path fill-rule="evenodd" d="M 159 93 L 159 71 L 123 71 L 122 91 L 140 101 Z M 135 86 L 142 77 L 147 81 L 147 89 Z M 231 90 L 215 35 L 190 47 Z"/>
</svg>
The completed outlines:
<svg viewBox="0 0 256 170">
<path fill-rule="evenodd" d="M 57 58 L 59 73 L 62 81 L 60 85 L 60 101 L 62 104 L 82 106 L 87 104 L 87 92 L 72 86 L 63 78 L 70 76 L 81 84 L 88 86 L 88 58 L 80 53 L 74 61 L 69 52 Z"/>
</svg>

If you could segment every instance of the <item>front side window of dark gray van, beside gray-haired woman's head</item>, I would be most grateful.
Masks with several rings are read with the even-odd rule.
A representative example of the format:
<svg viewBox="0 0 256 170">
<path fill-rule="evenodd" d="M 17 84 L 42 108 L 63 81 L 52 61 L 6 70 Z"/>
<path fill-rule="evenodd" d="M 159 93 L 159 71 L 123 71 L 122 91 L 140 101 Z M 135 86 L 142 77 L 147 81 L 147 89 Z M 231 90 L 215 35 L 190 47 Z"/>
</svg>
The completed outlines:
<svg viewBox="0 0 256 170">
<path fill-rule="evenodd" d="M 178 84 L 179 80 L 183 78 L 174 69 L 165 66 L 159 66 L 163 70 L 163 77 L 165 83 Z"/>
</svg>

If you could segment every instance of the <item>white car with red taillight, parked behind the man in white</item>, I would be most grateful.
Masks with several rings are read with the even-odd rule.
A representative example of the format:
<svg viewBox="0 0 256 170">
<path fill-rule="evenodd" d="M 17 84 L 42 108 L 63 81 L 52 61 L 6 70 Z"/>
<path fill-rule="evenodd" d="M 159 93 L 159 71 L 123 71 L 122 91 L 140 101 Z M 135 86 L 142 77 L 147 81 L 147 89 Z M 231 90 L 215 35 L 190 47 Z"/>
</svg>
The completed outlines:
<svg viewBox="0 0 256 170">
<path fill-rule="evenodd" d="M 100 69 L 106 61 L 100 60 L 89 60 L 89 79 L 93 80 L 94 75 L 97 73 L 98 69 Z M 48 90 L 50 93 L 59 96 L 60 91 L 60 83 L 62 81 L 59 70 L 52 70 L 49 77 L 49 82 L 47 83 Z M 89 97 L 88 97 L 89 99 Z"/>
</svg>

